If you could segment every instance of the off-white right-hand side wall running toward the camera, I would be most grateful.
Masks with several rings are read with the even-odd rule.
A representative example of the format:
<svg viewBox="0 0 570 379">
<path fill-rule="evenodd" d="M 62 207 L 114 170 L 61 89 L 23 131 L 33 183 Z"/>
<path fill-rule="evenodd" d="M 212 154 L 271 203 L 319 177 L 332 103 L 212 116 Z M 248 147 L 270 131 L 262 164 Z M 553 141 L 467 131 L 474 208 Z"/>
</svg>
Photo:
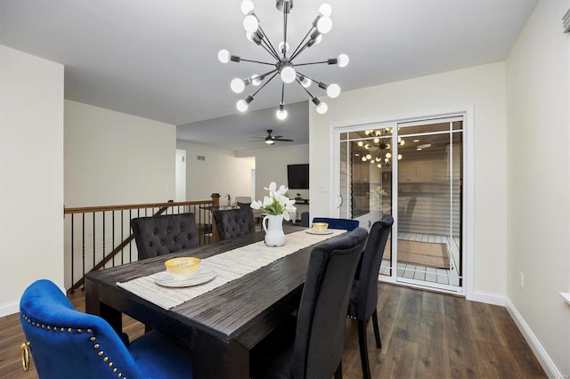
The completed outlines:
<svg viewBox="0 0 570 379">
<path fill-rule="evenodd" d="M 570 292 L 570 36 L 561 20 L 569 8 L 540 1 L 507 60 L 507 294 L 560 377 L 570 376 L 570 306 L 558 294 Z"/>
</svg>

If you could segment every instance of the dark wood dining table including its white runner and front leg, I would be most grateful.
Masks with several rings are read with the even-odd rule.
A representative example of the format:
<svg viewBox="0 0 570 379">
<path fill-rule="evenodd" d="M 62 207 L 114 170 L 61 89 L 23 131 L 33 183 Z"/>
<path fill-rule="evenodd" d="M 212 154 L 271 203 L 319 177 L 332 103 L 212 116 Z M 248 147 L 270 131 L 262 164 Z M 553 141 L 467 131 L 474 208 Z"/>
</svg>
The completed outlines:
<svg viewBox="0 0 570 379">
<path fill-rule="evenodd" d="M 182 343 L 190 348 L 194 378 L 249 378 L 251 349 L 298 308 L 311 250 L 346 232 L 283 229 L 281 247 L 265 246 L 265 233 L 258 231 L 90 272 L 85 311 L 106 319 L 118 333 L 126 314 Z M 200 258 L 216 277 L 194 286 L 159 284 L 164 263 L 181 256 Z"/>
</svg>

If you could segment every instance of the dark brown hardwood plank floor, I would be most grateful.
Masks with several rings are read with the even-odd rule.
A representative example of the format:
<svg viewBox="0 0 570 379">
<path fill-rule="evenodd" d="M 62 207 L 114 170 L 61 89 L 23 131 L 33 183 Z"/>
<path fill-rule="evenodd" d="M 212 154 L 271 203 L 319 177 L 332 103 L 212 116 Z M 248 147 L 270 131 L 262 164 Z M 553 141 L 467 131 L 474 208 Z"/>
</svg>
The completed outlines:
<svg viewBox="0 0 570 379">
<path fill-rule="evenodd" d="M 85 310 L 81 291 L 69 298 Z M 463 298 L 379 285 L 382 349 L 368 327 L 373 378 L 546 378 L 538 360 L 506 309 Z M 131 340 L 144 332 L 124 316 Z M 18 314 L 0 318 L 0 378 L 37 378 L 33 365 L 21 368 L 25 341 Z M 356 322 L 346 320 L 345 378 L 362 378 Z"/>
</svg>

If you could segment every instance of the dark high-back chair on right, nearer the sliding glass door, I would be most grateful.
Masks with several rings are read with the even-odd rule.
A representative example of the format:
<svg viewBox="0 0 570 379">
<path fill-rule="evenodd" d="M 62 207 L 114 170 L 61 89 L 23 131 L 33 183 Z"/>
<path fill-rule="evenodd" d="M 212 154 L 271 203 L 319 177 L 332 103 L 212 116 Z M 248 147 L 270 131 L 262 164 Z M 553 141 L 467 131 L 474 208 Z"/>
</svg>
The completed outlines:
<svg viewBox="0 0 570 379">
<path fill-rule="evenodd" d="M 368 361 L 368 348 L 366 343 L 366 327 L 372 317 L 376 347 L 381 348 L 376 303 L 378 302 L 378 275 L 382 254 L 387 239 L 392 230 L 394 218 L 387 214 L 378 222 L 372 224 L 371 232 L 362 253 L 358 270 L 354 276 L 353 287 L 348 302 L 346 317 L 358 322 L 358 341 L 360 344 L 360 359 L 364 379 L 370 379 L 371 368 Z"/>
</svg>

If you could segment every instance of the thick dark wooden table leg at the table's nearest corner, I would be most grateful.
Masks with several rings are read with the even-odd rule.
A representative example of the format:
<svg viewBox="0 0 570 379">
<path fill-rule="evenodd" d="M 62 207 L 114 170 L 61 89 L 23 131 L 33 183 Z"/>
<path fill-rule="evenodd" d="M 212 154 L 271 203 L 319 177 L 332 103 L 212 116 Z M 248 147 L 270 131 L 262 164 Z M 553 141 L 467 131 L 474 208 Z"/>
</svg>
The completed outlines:
<svg viewBox="0 0 570 379">
<path fill-rule="evenodd" d="M 199 328 L 192 333 L 192 361 L 194 378 L 249 378 L 248 349 Z"/>
</svg>

